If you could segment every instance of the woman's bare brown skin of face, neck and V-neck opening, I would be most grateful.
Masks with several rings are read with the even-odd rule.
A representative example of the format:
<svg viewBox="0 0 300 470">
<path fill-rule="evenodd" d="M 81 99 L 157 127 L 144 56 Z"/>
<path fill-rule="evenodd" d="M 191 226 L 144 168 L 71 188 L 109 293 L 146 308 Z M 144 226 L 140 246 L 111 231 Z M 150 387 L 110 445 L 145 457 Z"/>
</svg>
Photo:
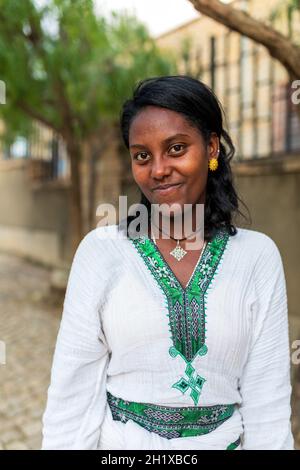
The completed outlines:
<svg viewBox="0 0 300 470">
<path fill-rule="evenodd" d="M 179 135 L 180 134 L 180 135 Z M 168 139 L 168 140 L 167 140 Z M 191 220 L 196 230 L 195 204 L 204 204 L 208 176 L 208 163 L 218 158 L 219 138 L 211 134 L 208 144 L 200 131 L 181 114 L 158 106 L 146 106 L 133 119 L 129 131 L 131 168 L 135 182 L 152 204 L 192 204 Z M 153 188 L 161 184 L 180 185 L 169 193 L 161 193 Z M 174 221 L 179 210 L 169 216 L 170 237 L 174 237 Z M 182 218 L 182 216 L 180 215 Z M 162 218 L 159 220 L 159 227 Z M 151 232 L 149 229 L 149 236 Z M 172 238 L 156 237 L 157 247 L 183 288 L 186 287 L 203 249 L 204 240 L 183 233 L 180 246 L 187 254 L 177 261 L 169 252 L 175 248 Z M 186 240 L 189 237 L 189 240 Z M 178 236 L 177 236 L 178 238 Z M 185 239 L 184 239 L 185 238 Z M 197 249 L 188 248 L 197 241 Z"/>
</svg>

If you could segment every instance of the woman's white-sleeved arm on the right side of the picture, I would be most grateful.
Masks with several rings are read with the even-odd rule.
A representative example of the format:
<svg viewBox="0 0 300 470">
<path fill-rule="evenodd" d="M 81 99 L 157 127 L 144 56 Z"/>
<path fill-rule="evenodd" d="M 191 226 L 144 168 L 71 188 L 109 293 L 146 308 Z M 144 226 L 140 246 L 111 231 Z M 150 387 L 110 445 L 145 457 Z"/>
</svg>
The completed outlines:
<svg viewBox="0 0 300 470">
<path fill-rule="evenodd" d="M 239 382 L 243 449 L 294 449 L 285 275 L 280 252 L 267 236 L 254 282 L 254 334 Z"/>
</svg>

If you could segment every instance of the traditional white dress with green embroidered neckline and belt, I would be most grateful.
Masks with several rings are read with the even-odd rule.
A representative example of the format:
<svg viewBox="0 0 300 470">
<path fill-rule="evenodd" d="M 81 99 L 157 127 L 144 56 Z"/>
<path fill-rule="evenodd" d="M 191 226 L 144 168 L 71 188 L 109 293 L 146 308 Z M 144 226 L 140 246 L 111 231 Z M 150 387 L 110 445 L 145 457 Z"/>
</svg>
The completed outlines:
<svg viewBox="0 0 300 470">
<path fill-rule="evenodd" d="M 237 230 L 207 243 L 186 289 L 151 239 L 84 237 L 42 449 L 294 449 L 281 255 Z"/>
</svg>

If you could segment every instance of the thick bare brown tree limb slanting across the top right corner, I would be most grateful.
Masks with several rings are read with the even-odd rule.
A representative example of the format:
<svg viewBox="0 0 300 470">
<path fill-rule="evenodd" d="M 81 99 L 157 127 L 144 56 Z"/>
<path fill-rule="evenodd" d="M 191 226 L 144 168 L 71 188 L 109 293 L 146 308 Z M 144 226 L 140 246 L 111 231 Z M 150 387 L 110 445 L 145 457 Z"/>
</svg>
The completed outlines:
<svg viewBox="0 0 300 470">
<path fill-rule="evenodd" d="M 293 80 L 300 78 L 300 47 L 266 23 L 219 0 L 189 0 L 197 11 L 265 46 Z"/>
</svg>

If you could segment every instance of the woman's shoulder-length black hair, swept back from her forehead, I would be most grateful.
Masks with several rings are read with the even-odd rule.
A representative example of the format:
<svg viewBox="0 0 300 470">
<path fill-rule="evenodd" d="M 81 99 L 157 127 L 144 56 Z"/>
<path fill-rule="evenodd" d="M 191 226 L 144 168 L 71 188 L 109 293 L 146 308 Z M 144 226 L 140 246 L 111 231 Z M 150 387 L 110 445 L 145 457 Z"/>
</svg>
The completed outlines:
<svg viewBox="0 0 300 470">
<path fill-rule="evenodd" d="M 211 240 L 215 233 L 225 227 L 230 235 L 236 235 L 233 216 L 239 213 L 239 201 L 233 185 L 230 161 L 235 148 L 223 127 L 224 110 L 214 92 L 206 84 L 187 75 L 152 77 L 140 81 L 133 91 L 133 97 L 124 102 L 120 127 L 125 146 L 129 149 L 130 125 L 136 115 L 146 106 L 158 106 L 180 113 L 190 125 L 196 127 L 207 144 L 211 133 L 220 140 L 218 168 L 208 172 L 206 200 L 204 205 L 204 238 Z M 147 207 L 151 216 L 151 203 L 141 192 L 140 204 Z M 247 208 L 247 206 L 245 206 Z M 249 210 L 247 208 L 249 213 Z M 126 219 L 128 225 L 135 216 Z M 250 222 L 251 223 L 251 222 Z"/>
</svg>

